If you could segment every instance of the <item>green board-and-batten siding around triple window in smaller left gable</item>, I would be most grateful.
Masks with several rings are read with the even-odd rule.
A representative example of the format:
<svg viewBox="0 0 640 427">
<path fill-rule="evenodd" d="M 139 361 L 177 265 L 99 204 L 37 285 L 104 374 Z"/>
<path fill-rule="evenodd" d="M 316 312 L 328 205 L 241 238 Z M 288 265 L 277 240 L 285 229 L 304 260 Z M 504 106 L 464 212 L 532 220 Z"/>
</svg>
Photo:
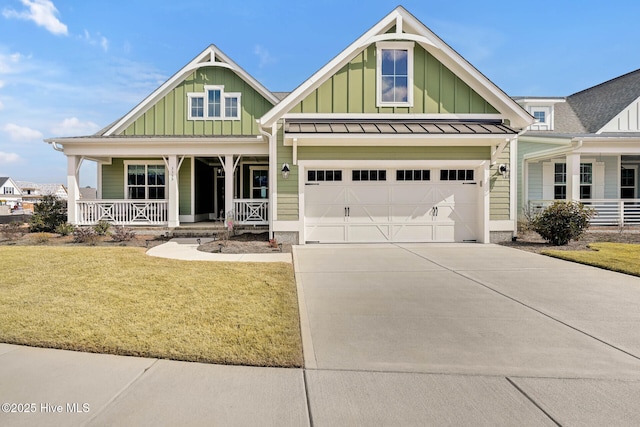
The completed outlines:
<svg viewBox="0 0 640 427">
<path fill-rule="evenodd" d="M 239 92 L 240 120 L 188 120 L 187 93 L 203 93 L 205 85 L 224 86 Z M 259 135 L 256 119 L 273 105 L 232 70 L 204 67 L 184 79 L 171 92 L 129 125 L 127 136 L 250 136 Z"/>
</svg>

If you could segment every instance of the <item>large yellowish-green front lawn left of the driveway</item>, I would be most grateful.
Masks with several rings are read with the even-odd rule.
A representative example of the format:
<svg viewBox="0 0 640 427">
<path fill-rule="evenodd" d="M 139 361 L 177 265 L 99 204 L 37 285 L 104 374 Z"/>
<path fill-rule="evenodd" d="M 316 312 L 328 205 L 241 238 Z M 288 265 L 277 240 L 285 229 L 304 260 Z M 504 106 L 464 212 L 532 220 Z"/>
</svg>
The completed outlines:
<svg viewBox="0 0 640 427">
<path fill-rule="evenodd" d="M 0 342 L 301 366 L 293 268 L 153 258 L 140 248 L 0 247 Z"/>
</svg>

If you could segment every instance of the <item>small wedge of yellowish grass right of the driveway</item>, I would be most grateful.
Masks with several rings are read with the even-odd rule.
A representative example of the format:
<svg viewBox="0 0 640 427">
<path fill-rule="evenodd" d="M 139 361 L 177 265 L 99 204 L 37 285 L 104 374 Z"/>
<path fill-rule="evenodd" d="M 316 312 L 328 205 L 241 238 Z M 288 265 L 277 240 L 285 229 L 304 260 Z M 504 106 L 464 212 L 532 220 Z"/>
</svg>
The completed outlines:
<svg viewBox="0 0 640 427">
<path fill-rule="evenodd" d="M 640 245 L 628 243 L 592 243 L 593 251 L 543 251 L 544 255 L 620 273 L 640 276 Z"/>
</svg>

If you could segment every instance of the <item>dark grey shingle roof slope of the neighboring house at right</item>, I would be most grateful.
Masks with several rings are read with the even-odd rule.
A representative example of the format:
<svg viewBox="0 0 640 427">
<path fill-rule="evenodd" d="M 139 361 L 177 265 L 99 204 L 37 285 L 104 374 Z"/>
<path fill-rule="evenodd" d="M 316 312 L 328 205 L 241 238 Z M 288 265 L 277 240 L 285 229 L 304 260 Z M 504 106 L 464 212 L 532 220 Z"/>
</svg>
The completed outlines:
<svg viewBox="0 0 640 427">
<path fill-rule="evenodd" d="M 597 133 L 629 104 L 640 97 L 640 70 L 616 77 L 567 97 L 571 113 L 580 123 L 583 133 Z M 575 126 L 575 123 L 574 123 Z"/>
</svg>

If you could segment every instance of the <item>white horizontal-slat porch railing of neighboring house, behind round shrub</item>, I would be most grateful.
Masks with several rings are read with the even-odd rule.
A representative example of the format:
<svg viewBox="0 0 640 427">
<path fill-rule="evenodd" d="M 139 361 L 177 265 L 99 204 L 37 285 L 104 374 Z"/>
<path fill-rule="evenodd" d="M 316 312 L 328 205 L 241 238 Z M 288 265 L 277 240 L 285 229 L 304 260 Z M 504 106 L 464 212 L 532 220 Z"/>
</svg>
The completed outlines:
<svg viewBox="0 0 640 427">
<path fill-rule="evenodd" d="M 529 212 L 535 215 L 553 202 L 529 200 Z M 591 225 L 640 225 L 640 199 L 582 199 L 580 202 L 596 211 Z"/>
</svg>

